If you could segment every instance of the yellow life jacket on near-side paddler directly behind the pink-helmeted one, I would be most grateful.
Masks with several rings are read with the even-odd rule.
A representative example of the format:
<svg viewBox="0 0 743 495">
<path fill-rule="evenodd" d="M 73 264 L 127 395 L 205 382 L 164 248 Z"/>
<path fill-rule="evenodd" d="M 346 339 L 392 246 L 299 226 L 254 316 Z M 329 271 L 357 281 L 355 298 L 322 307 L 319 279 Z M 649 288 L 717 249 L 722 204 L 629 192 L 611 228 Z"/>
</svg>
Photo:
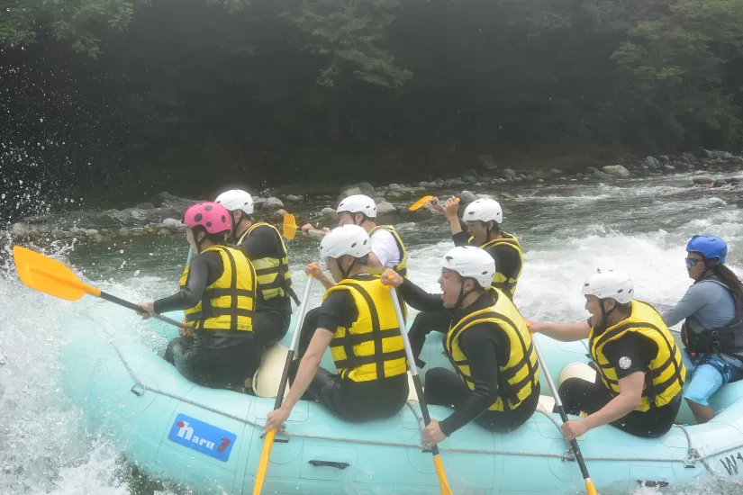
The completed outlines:
<svg viewBox="0 0 743 495">
<path fill-rule="evenodd" d="M 348 291 L 358 310 L 350 328 L 339 327 L 331 340 L 331 356 L 340 378 L 371 382 L 407 372 L 405 345 L 389 289 L 376 277 L 345 279 L 328 289 L 323 301 L 337 291 Z"/>
</svg>

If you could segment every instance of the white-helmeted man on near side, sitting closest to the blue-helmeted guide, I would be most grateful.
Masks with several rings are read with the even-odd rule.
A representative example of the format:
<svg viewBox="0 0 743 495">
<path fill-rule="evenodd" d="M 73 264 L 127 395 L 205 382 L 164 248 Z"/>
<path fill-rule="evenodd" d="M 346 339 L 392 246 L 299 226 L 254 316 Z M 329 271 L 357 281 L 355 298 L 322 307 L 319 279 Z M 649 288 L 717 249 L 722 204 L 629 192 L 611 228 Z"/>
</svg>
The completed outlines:
<svg viewBox="0 0 743 495">
<path fill-rule="evenodd" d="M 657 311 L 634 299 L 629 275 L 591 275 L 583 287 L 591 318 L 581 323 L 527 321 L 530 331 L 572 342 L 588 338 L 597 378 L 568 378 L 559 395 L 568 414 L 588 414 L 561 427 L 566 439 L 602 425 L 637 437 L 660 437 L 681 407 L 686 370 L 681 352 Z"/>
</svg>

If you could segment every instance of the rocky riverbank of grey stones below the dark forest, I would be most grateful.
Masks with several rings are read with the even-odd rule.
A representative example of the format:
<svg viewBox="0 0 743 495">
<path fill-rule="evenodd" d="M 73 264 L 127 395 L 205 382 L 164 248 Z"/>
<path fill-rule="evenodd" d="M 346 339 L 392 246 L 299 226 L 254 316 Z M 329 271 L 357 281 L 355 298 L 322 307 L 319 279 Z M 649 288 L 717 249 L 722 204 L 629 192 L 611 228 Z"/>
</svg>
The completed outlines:
<svg viewBox="0 0 743 495">
<path fill-rule="evenodd" d="M 521 185 L 539 187 L 541 184 L 559 182 L 607 182 L 694 171 L 700 172 L 700 175 L 693 177 L 695 186 L 726 187 L 736 191 L 739 186 L 743 186 L 738 178 L 715 178 L 715 174 L 743 168 L 743 157 L 719 150 L 702 150 L 699 155 L 683 153 L 673 157 L 666 155 L 657 158 L 645 157 L 633 163 L 620 161 L 615 165 L 603 166 L 601 170 L 589 166 L 582 172 L 570 175 L 557 169 L 517 171 L 514 168 L 501 168 L 490 155 L 476 157 L 475 161 L 476 167 L 458 177 L 423 181 L 418 184 L 391 183 L 375 186 L 362 182 L 342 188 L 337 196 L 298 194 L 277 194 L 277 197 L 254 196 L 255 215 L 259 220 L 280 223 L 286 210 L 290 210 L 298 221 L 324 220 L 326 224 L 332 223 L 340 199 L 350 194 L 364 193 L 376 200 L 377 211 L 383 221 L 425 220 L 436 212 L 427 207 L 411 212 L 407 207 L 426 194 L 442 196 L 456 194 L 463 204 L 481 197 L 507 201 L 518 195 L 518 188 Z M 68 211 L 62 215 L 27 217 L 11 226 L 11 234 L 17 239 L 42 238 L 51 241 L 77 238 L 99 242 L 113 238 L 171 235 L 184 229 L 180 222 L 183 211 L 198 201 L 202 200 L 159 193 L 151 198 L 150 202 L 123 210 Z"/>
</svg>

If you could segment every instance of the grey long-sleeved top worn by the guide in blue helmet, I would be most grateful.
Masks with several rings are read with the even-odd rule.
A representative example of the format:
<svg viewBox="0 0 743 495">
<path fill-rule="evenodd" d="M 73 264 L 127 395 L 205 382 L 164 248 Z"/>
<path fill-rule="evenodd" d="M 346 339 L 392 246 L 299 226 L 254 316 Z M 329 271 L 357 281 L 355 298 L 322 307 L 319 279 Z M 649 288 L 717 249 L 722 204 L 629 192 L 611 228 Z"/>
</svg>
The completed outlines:
<svg viewBox="0 0 743 495">
<path fill-rule="evenodd" d="M 711 281 L 693 284 L 681 301 L 663 313 L 663 321 L 668 327 L 673 327 L 690 316 L 705 329 L 724 327 L 735 318 L 735 298 L 720 284 Z M 737 359 L 726 357 L 725 360 L 731 365 L 743 367 L 743 363 Z"/>
</svg>

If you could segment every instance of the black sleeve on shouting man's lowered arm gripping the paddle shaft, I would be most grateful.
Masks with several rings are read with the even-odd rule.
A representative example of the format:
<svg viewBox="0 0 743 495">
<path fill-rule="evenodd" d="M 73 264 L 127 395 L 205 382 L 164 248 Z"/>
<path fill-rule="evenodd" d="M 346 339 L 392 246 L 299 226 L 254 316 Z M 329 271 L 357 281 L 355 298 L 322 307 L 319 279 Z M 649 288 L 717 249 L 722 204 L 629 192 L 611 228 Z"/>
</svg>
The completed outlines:
<svg viewBox="0 0 743 495">
<path fill-rule="evenodd" d="M 475 390 L 461 407 L 449 418 L 439 423 L 441 431 L 449 437 L 488 410 L 498 400 L 498 357 L 496 349 L 502 347 L 495 337 L 492 323 L 480 323 L 467 329 L 459 338 L 459 346 L 467 356 L 469 371 Z M 508 347 L 508 344 L 506 347 Z M 510 349 L 502 349 L 510 352 Z"/>
</svg>

